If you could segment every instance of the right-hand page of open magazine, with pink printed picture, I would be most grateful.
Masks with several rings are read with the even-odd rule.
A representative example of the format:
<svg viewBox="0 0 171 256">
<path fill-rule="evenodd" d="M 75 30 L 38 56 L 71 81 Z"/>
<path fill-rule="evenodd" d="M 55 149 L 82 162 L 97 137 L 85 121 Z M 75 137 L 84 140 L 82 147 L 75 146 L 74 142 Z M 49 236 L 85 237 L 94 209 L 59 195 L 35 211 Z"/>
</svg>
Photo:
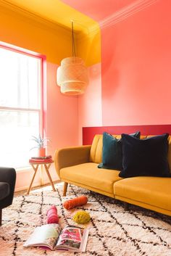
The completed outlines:
<svg viewBox="0 0 171 256">
<path fill-rule="evenodd" d="M 85 245 L 88 235 L 84 235 L 85 230 L 77 226 L 66 226 L 57 240 L 55 249 L 68 249 L 74 251 L 86 250 Z M 87 232 L 86 232 L 87 233 Z"/>
</svg>

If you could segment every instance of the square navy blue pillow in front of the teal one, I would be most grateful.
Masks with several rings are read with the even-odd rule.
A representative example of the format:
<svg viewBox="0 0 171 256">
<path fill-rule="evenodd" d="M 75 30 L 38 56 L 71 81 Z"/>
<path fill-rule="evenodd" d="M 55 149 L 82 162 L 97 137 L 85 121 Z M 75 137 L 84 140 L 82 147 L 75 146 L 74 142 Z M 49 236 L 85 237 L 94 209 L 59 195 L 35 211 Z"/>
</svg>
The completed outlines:
<svg viewBox="0 0 171 256">
<path fill-rule="evenodd" d="M 168 136 L 165 133 L 141 140 L 122 134 L 122 171 L 119 176 L 170 177 Z"/>
</svg>

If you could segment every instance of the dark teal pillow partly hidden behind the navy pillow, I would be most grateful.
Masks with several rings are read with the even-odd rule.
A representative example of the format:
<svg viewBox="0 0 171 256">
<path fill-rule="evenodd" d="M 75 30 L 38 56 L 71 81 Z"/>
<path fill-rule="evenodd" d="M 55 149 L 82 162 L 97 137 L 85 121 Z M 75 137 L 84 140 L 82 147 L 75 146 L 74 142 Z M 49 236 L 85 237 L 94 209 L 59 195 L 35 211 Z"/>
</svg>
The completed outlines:
<svg viewBox="0 0 171 256">
<path fill-rule="evenodd" d="M 140 132 L 132 133 L 137 139 L 140 138 Z M 109 133 L 103 133 L 103 152 L 102 161 L 98 168 L 122 170 L 122 139 L 116 139 Z"/>
</svg>

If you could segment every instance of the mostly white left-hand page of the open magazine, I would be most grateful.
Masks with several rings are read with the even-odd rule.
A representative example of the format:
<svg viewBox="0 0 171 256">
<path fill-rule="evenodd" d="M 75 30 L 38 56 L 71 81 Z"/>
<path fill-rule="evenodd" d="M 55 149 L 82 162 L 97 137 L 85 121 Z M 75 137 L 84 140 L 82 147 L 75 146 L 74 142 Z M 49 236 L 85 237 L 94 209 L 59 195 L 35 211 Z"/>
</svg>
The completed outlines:
<svg viewBox="0 0 171 256">
<path fill-rule="evenodd" d="M 60 226 L 55 223 L 37 227 L 30 238 L 25 242 L 24 247 L 43 246 L 54 249 L 60 232 Z"/>
</svg>

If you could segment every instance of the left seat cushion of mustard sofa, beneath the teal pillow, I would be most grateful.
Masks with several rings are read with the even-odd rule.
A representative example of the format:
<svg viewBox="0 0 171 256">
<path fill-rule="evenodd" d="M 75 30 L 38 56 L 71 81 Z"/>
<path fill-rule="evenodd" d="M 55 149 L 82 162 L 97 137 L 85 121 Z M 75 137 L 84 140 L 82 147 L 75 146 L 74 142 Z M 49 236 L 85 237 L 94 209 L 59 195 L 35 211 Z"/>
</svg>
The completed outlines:
<svg viewBox="0 0 171 256">
<path fill-rule="evenodd" d="M 119 177 L 118 170 L 99 169 L 98 164 L 94 162 L 62 168 L 60 178 L 63 181 L 73 181 L 100 189 L 109 194 L 113 194 L 113 183 L 122 179 Z"/>
</svg>

